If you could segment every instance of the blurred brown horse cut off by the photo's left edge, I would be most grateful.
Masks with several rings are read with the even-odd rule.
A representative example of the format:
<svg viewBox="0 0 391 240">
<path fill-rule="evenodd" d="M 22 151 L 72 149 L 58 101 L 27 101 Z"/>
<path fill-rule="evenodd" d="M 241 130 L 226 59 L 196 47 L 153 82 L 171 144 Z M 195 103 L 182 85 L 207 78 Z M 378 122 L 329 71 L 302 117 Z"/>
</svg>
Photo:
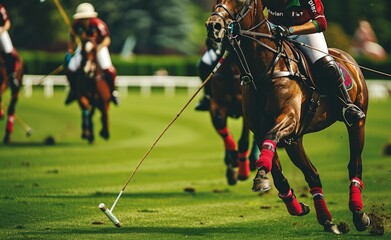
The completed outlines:
<svg viewBox="0 0 391 240">
<path fill-rule="evenodd" d="M 11 99 L 7 109 L 7 124 L 5 128 L 5 134 L 3 142 L 9 144 L 11 141 L 11 133 L 14 128 L 15 120 L 15 107 L 18 101 L 19 91 L 22 87 L 22 78 L 23 78 L 23 62 L 19 54 L 14 50 L 12 55 L 17 59 L 14 63 L 6 64 L 5 58 L 7 57 L 5 53 L 1 53 L 0 56 L 0 120 L 5 116 L 2 108 L 2 95 L 7 89 L 11 90 Z"/>
</svg>

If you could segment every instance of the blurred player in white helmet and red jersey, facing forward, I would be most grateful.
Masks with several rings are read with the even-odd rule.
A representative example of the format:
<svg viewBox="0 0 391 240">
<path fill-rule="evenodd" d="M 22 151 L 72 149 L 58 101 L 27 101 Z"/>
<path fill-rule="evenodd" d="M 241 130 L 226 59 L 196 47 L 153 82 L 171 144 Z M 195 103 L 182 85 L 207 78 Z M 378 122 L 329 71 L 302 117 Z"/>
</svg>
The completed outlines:
<svg viewBox="0 0 391 240">
<path fill-rule="evenodd" d="M 111 100 L 114 104 L 118 104 L 118 92 L 115 90 L 115 78 L 117 76 L 110 53 L 109 45 L 111 42 L 110 33 L 107 25 L 98 17 L 94 6 L 90 3 L 81 3 L 76 8 L 76 13 L 73 15 L 74 22 L 70 31 L 70 41 L 68 44 L 68 52 L 65 57 L 65 65 L 67 65 L 66 75 L 70 85 L 68 97 L 65 104 L 71 103 L 76 99 L 76 77 L 77 70 L 81 64 L 80 44 L 78 41 L 85 38 L 94 38 L 97 46 L 97 62 L 105 73 L 105 79 L 110 86 Z M 78 47 L 75 49 L 75 45 Z M 73 54 L 73 56 L 72 56 Z"/>
</svg>

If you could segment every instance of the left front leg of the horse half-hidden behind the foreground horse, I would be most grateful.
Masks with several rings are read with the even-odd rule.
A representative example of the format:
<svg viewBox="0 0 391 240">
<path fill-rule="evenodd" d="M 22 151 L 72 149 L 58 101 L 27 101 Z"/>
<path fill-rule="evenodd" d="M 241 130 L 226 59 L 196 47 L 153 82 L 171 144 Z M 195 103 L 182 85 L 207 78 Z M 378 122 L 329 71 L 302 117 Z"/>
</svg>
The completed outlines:
<svg viewBox="0 0 391 240">
<path fill-rule="evenodd" d="M 228 184 L 235 185 L 237 182 L 237 173 L 234 168 L 238 166 L 238 151 L 235 140 L 227 127 L 227 110 L 218 107 L 212 99 L 210 114 L 213 126 L 224 142 L 224 162 L 227 166 L 226 177 Z"/>
</svg>

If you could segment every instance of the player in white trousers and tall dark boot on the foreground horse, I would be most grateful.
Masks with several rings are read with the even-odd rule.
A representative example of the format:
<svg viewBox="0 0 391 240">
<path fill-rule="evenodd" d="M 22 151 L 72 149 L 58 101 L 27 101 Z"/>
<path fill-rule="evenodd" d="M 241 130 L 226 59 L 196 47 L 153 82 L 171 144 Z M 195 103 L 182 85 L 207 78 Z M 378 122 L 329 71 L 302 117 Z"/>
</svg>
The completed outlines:
<svg viewBox="0 0 391 240">
<path fill-rule="evenodd" d="M 278 1 L 280 2 L 280 1 Z M 312 46 L 299 46 L 313 64 L 318 78 L 330 84 L 342 107 L 342 115 L 348 125 L 365 118 L 365 114 L 352 103 L 344 84 L 342 71 L 334 58 L 328 54 L 323 32 L 327 20 L 321 0 L 285 0 L 285 4 L 263 0 L 268 9 L 268 22 L 280 37 L 292 38 Z M 331 82 L 330 82 L 331 81 Z"/>
</svg>

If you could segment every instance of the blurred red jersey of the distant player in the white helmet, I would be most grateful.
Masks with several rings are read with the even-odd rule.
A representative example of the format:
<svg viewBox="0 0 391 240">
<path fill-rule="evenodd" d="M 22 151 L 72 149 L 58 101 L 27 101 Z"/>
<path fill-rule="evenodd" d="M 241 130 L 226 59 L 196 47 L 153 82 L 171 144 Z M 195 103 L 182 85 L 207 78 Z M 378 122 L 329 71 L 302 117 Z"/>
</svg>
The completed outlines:
<svg viewBox="0 0 391 240">
<path fill-rule="evenodd" d="M 94 38 L 99 44 L 105 37 L 110 35 L 106 23 L 101 19 L 90 18 L 88 21 L 89 24 L 87 28 L 82 24 L 81 19 L 76 19 L 72 24 L 73 32 L 78 35 L 80 39 Z"/>
</svg>

